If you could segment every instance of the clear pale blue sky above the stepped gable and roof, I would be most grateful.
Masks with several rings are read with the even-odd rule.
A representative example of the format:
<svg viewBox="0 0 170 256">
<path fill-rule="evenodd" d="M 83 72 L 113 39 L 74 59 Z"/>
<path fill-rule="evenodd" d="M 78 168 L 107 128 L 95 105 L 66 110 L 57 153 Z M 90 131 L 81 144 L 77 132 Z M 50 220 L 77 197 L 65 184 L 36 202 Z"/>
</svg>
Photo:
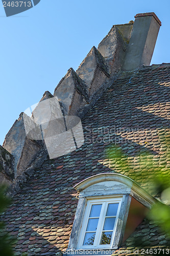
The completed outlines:
<svg viewBox="0 0 170 256">
<path fill-rule="evenodd" d="M 0 3 L 0 144 L 19 114 L 54 93 L 61 78 L 76 70 L 112 25 L 155 12 L 162 22 L 152 63 L 170 62 L 170 1 L 41 0 L 34 8 L 5 16 Z"/>
</svg>

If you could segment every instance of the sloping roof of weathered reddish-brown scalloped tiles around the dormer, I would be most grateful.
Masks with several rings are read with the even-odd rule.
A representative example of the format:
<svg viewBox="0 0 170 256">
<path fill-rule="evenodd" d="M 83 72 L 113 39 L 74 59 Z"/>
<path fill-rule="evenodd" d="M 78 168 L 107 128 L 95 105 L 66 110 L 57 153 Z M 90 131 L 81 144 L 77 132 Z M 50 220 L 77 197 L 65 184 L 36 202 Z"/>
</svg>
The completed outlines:
<svg viewBox="0 0 170 256">
<path fill-rule="evenodd" d="M 92 175 L 117 172 L 148 189 L 144 177 L 157 171 L 139 165 L 139 153 L 153 159 L 169 174 L 170 64 L 122 73 L 82 119 L 85 142 L 68 155 L 45 161 L 21 191 L 3 219 L 17 237 L 15 254 L 61 255 L 68 246 L 78 203 L 75 184 Z M 165 143 L 167 140 L 167 143 Z M 110 142 L 111 141 L 111 142 Z M 107 155 L 114 142 L 128 155 L 130 169 L 120 168 Z M 153 160 L 148 156 L 148 160 Z M 141 236 L 146 246 L 166 246 L 169 241 L 152 222 L 144 220 L 122 248 L 134 248 Z"/>
</svg>

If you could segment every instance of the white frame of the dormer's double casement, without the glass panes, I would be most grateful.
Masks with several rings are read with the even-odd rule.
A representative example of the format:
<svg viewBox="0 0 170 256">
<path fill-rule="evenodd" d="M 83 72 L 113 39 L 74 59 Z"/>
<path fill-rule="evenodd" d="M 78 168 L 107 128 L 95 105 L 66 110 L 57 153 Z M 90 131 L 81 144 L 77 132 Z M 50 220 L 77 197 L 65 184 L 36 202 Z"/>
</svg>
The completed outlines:
<svg viewBox="0 0 170 256">
<path fill-rule="evenodd" d="M 109 203 L 118 203 L 119 205 L 118 205 L 118 208 L 117 208 L 117 214 L 116 214 L 116 218 L 115 218 L 115 223 L 114 223 L 114 229 L 113 229 L 113 233 L 112 233 L 111 242 L 108 245 L 107 244 L 101 245 L 100 241 L 101 241 L 103 226 L 104 226 L 106 213 L 107 213 L 107 208 L 108 208 Z M 85 238 L 85 233 L 86 233 L 86 228 L 87 228 L 87 224 L 88 224 L 88 220 L 89 220 L 89 216 L 90 216 L 90 210 L 91 210 L 92 205 L 94 205 L 94 204 L 102 204 L 101 213 L 100 213 L 99 222 L 98 222 L 98 227 L 97 227 L 96 233 L 95 233 L 94 244 L 93 245 L 83 245 L 84 238 Z M 111 198 L 103 197 L 103 198 L 98 198 L 98 199 L 87 199 L 86 209 L 85 209 L 85 212 L 84 212 L 84 218 L 83 218 L 83 223 L 82 223 L 82 227 L 81 227 L 81 230 L 80 230 L 80 236 L 79 236 L 77 248 L 79 248 L 79 249 L 112 248 L 113 241 L 114 241 L 114 238 L 115 238 L 115 233 L 117 232 L 117 228 L 118 228 L 117 227 L 117 222 L 118 222 L 118 217 L 119 217 L 121 204 L 122 204 L 122 197 L 111 197 Z"/>
</svg>

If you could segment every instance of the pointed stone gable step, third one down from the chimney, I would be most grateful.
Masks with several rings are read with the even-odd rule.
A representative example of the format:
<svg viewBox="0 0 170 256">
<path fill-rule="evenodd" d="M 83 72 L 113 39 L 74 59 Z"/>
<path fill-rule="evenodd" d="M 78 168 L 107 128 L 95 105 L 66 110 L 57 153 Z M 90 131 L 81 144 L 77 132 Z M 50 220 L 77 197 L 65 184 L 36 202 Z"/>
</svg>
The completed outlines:
<svg viewBox="0 0 170 256">
<path fill-rule="evenodd" d="M 62 103 L 64 115 L 76 115 L 81 106 L 88 101 L 86 84 L 72 68 L 59 82 L 54 96 Z"/>
</svg>

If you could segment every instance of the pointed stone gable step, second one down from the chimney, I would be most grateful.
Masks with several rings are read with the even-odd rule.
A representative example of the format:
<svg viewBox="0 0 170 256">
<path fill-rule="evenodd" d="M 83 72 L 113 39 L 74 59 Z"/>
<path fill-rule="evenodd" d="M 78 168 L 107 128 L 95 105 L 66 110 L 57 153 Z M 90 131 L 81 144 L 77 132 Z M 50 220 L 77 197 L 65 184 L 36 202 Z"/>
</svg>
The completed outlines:
<svg viewBox="0 0 170 256">
<path fill-rule="evenodd" d="M 76 73 L 85 81 L 89 97 L 101 87 L 110 75 L 107 62 L 94 46 Z"/>
</svg>

